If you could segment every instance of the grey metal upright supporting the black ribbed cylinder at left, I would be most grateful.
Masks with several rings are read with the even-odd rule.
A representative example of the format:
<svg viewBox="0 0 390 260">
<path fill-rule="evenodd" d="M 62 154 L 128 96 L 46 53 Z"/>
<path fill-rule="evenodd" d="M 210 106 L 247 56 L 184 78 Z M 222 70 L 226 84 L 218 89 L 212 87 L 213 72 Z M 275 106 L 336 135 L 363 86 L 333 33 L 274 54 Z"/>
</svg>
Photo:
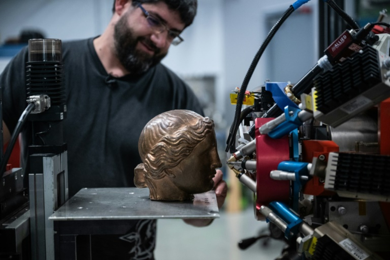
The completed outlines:
<svg viewBox="0 0 390 260">
<path fill-rule="evenodd" d="M 30 156 L 30 226 L 33 260 L 54 259 L 53 221 L 48 218 L 68 197 L 67 152 Z"/>
</svg>

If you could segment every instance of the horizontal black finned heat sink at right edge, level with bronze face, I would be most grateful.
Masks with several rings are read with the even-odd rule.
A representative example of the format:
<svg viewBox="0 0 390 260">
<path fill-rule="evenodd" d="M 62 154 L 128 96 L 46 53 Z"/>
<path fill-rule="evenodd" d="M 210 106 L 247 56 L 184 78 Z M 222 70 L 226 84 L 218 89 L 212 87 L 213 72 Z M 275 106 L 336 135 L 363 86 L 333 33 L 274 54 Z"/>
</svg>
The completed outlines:
<svg viewBox="0 0 390 260">
<path fill-rule="evenodd" d="M 336 191 L 390 195 L 390 156 L 339 153 Z"/>
</svg>

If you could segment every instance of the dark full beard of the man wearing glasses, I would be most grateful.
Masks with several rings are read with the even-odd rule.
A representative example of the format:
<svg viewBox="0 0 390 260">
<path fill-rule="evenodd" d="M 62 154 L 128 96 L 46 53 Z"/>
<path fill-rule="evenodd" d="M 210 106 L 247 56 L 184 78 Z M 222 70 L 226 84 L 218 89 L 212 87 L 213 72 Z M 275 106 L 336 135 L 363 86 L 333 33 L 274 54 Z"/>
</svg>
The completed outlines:
<svg viewBox="0 0 390 260">
<path fill-rule="evenodd" d="M 114 27 L 115 52 L 122 66 L 130 74 L 141 74 L 158 64 L 167 53 L 162 53 L 161 49 L 157 48 L 149 38 L 135 37 L 127 25 L 127 19 L 127 15 L 122 16 Z M 154 55 L 137 50 L 138 42 L 142 42 L 154 50 Z"/>
</svg>

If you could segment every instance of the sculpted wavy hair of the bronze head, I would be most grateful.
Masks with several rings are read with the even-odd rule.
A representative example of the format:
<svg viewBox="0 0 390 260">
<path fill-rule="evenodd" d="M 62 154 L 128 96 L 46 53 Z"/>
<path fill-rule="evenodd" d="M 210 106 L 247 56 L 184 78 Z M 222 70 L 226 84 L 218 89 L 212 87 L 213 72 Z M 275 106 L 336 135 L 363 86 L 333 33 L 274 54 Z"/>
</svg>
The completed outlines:
<svg viewBox="0 0 390 260">
<path fill-rule="evenodd" d="M 138 141 L 144 163 L 137 168 L 143 168 L 147 186 L 150 188 L 146 179 L 161 179 L 165 175 L 174 178 L 171 169 L 188 157 L 213 128 L 211 119 L 189 110 L 168 111 L 150 120 Z"/>
</svg>

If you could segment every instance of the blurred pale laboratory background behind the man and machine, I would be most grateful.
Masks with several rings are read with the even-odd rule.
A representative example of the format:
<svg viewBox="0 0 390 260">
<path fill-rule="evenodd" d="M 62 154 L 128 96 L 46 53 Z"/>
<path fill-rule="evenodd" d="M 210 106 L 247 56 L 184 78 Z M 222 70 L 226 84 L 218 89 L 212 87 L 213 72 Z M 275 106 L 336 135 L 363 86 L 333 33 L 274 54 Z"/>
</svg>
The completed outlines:
<svg viewBox="0 0 390 260">
<path fill-rule="evenodd" d="M 94 37 L 112 16 L 112 0 L 1 0 L 0 72 L 31 38 L 62 41 Z M 172 46 L 163 64 L 183 78 L 214 120 L 221 161 L 235 106 L 229 94 L 240 87 L 269 30 L 293 0 L 198 0 L 198 14 Z M 376 21 L 390 1 L 337 1 L 359 24 Z M 322 0 L 304 5 L 282 25 L 264 52 L 249 83 L 253 90 L 271 81 L 296 83 L 321 57 Z M 322 10 L 322 11 L 321 11 Z M 321 32 L 321 35 L 320 35 Z M 240 239 L 268 234 L 268 224 L 254 217 L 252 196 L 223 167 L 229 184 L 227 202 L 211 226 L 194 228 L 180 219 L 159 220 L 156 259 L 275 259 L 286 245 L 263 238 L 246 250 Z"/>
</svg>

